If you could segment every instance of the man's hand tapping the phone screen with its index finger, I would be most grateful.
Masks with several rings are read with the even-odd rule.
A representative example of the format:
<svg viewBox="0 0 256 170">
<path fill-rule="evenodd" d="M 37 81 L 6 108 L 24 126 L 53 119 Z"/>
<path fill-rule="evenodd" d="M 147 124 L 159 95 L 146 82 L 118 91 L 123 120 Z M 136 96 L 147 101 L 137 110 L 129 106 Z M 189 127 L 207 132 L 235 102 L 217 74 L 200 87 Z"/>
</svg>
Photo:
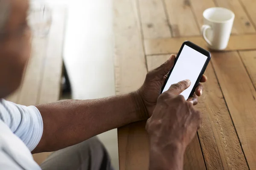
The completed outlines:
<svg viewBox="0 0 256 170">
<path fill-rule="evenodd" d="M 146 130 L 150 136 L 150 170 L 181 170 L 186 146 L 201 126 L 201 113 L 180 95 L 191 82 L 172 85 L 157 99 Z"/>
</svg>

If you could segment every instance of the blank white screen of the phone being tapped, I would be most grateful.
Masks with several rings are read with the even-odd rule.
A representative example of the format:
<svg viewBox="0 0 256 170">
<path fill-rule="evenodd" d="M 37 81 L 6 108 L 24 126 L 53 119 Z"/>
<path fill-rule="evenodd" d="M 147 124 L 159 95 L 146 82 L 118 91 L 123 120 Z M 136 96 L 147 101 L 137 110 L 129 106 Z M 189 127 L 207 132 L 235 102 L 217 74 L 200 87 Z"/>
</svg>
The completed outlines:
<svg viewBox="0 0 256 170">
<path fill-rule="evenodd" d="M 181 93 L 185 99 L 188 99 L 206 61 L 207 56 L 184 45 L 163 92 L 167 91 L 172 84 L 189 79 L 191 85 Z"/>
</svg>

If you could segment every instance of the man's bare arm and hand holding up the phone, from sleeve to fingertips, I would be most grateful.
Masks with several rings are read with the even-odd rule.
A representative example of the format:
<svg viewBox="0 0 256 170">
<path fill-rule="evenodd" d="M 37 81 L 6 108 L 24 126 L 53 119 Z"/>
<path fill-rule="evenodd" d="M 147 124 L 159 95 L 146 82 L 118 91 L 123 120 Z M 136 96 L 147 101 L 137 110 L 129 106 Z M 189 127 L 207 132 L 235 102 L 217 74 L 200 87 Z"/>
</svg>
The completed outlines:
<svg viewBox="0 0 256 170">
<path fill-rule="evenodd" d="M 165 75 L 171 70 L 175 55 L 148 72 L 142 87 L 131 94 L 95 100 L 64 100 L 37 105 L 44 123 L 44 132 L 32 153 L 59 150 L 80 143 L 116 127 L 148 119 L 156 107 Z M 203 76 L 201 82 L 205 82 Z M 201 95 L 200 84 L 195 94 Z M 197 97 L 191 99 L 197 103 Z"/>
</svg>

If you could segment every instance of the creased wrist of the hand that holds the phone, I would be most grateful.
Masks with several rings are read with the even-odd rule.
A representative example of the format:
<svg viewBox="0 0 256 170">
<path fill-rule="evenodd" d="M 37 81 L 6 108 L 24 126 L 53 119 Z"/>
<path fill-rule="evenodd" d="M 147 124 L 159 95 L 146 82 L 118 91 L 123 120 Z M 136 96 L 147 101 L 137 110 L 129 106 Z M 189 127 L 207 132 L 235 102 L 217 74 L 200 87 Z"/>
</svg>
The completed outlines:
<svg viewBox="0 0 256 170">
<path fill-rule="evenodd" d="M 143 98 L 140 94 L 140 91 L 134 91 L 130 93 L 130 96 L 132 98 L 132 102 L 134 105 L 134 111 L 138 118 L 137 121 L 145 120 L 149 118 L 149 114 L 147 111 L 147 108 L 145 106 L 145 103 L 143 102 Z"/>
</svg>

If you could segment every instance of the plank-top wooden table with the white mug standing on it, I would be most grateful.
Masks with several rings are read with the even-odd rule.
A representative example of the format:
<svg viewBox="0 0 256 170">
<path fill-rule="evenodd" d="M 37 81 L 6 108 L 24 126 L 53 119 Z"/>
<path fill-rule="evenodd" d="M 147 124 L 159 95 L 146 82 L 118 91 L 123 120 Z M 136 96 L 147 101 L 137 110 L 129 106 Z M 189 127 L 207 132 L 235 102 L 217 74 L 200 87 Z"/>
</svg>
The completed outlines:
<svg viewBox="0 0 256 170">
<path fill-rule="evenodd" d="M 114 0 L 116 94 L 139 88 L 148 71 L 189 40 L 207 49 L 202 13 L 235 15 L 226 50 L 212 51 L 203 125 L 186 150 L 185 170 L 256 169 L 256 0 Z M 148 169 L 145 122 L 118 129 L 120 170 Z"/>
</svg>

